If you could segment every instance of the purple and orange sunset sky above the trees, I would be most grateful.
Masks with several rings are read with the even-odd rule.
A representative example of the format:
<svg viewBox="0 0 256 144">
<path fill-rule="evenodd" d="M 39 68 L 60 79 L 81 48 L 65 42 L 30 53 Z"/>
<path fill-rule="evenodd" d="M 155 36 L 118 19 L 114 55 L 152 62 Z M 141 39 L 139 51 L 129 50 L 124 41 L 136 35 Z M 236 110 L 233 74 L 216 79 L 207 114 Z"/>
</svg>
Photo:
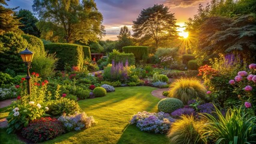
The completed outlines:
<svg viewBox="0 0 256 144">
<path fill-rule="evenodd" d="M 128 26 L 132 32 L 132 21 L 136 20 L 143 8 L 154 4 L 164 4 L 171 13 L 175 13 L 177 24 L 182 25 L 189 17 L 197 14 L 198 5 L 206 5 L 210 0 L 95 0 L 97 8 L 103 14 L 106 37 L 103 40 L 117 40 L 121 26 Z M 7 1 L 8 7 L 20 7 L 32 11 L 32 0 Z"/>
</svg>

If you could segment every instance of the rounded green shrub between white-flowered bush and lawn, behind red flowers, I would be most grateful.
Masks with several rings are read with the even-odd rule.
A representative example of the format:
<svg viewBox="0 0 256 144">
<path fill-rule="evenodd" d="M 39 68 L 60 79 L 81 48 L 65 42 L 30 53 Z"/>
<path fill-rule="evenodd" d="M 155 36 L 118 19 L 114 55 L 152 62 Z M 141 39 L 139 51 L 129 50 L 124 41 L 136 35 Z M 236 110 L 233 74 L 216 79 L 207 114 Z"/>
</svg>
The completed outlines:
<svg viewBox="0 0 256 144">
<path fill-rule="evenodd" d="M 52 116 L 61 116 L 63 113 L 74 115 L 81 110 L 76 101 L 64 97 L 51 101 L 48 107 L 47 113 Z"/>
</svg>

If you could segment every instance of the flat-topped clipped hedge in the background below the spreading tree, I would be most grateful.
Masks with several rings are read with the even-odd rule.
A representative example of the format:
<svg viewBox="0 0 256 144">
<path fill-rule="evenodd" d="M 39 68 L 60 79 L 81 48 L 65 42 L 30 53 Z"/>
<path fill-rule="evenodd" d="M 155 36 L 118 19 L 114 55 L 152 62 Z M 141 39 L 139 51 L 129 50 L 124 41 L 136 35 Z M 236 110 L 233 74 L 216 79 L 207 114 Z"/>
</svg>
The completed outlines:
<svg viewBox="0 0 256 144">
<path fill-rule="evenodd" d="M 126 46 L 123 47 L 123 52 L 133 53 L 136 62 L 139 62 L 141 60 L 147 61 L 148 58 L 148 47 L 146 46 Z"/>
</svg>

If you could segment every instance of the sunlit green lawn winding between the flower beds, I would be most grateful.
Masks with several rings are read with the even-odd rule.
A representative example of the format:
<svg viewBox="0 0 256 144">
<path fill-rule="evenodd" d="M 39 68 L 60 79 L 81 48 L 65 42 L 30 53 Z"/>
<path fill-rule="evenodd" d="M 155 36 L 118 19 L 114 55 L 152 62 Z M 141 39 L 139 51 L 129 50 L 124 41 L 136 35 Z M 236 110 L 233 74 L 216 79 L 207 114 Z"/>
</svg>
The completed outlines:
<svg viewBox="0 0 256 144">
<path fill-rule="evenodd" d="M 115 88 L 115 92 L 105 97 L 79 101 L 81 109 L 88 116 L 94 116 L 97 124 L 44 143 L 168 143 L 164 134 L 145 133 L 129 125 L 131 116 L 137 112 L 157 112 L 159 98 L 150 94 L 154 89 L 145 86 Z"/>
</svg>

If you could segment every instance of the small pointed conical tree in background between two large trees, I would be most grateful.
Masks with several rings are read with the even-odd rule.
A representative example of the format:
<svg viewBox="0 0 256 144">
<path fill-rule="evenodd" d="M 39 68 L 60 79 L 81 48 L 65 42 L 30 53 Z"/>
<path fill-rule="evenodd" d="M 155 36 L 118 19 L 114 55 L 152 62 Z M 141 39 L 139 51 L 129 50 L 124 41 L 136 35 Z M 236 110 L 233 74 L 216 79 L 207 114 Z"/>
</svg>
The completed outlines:
<svg viewBox="0 0 256 144">
<path fill-rule="evenodd" d="M 132 46 L 132 38 L 130 31 L 127 26 L 123 26 L 120 29 L 119 35 L 117 35 L 118 42 L 115 44 L 115 49 L 118 49 L 120 52 L 123 51 L 124 46 Z"/>
</svg>

